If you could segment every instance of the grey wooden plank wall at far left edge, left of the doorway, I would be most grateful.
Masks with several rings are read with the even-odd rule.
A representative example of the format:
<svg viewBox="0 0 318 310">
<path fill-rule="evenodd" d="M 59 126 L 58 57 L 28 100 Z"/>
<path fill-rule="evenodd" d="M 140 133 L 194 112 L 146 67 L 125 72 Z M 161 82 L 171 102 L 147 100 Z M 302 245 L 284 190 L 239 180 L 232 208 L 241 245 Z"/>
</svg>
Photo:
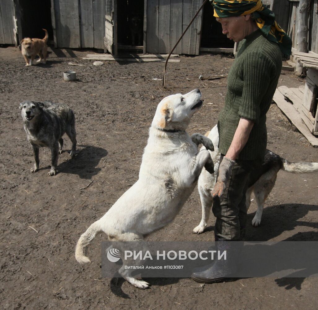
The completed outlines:
<svg viewBox="0 0 318 310">
<path fill-rule="evenodd" d="M 0 1 L 0 44 L 15 44 L 14 40 L 14 4 L 12 0 Z"/>
</svg>

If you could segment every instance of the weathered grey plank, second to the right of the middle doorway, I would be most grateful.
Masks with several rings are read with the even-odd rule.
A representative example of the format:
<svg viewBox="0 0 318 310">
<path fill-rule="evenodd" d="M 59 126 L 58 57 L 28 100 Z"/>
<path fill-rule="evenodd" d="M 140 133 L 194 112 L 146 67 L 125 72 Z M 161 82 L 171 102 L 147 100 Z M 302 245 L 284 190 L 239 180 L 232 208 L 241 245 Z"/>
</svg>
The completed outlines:
<svg viewBox="0 0 318 310">
<path fill-rule="evenodd" d="M 170 0 L 159 0 L 158 53 L 169 53 Z"/>
</svg>

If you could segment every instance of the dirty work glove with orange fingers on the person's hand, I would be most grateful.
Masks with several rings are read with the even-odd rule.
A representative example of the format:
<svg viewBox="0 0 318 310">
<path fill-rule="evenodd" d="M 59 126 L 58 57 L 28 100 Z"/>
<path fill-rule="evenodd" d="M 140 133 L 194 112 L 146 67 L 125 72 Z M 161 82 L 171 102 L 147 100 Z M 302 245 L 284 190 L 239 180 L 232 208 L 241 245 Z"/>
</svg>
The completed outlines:
<svg viewBox="0 0 318 310">
<path fill-rule="evenodd" d="M 214 185 L 212 191 L 212 197 L 222 198 L 222 195 L 225 192 L 226 187 L 228 186 L 228 182 L 232 175 L 232 169 L 234 167 L 235 160 L 229 159 L 227 157 L 223 157 L 221 164 L 219 166 L 219 173 L 217 182 Z"/>
</svg>

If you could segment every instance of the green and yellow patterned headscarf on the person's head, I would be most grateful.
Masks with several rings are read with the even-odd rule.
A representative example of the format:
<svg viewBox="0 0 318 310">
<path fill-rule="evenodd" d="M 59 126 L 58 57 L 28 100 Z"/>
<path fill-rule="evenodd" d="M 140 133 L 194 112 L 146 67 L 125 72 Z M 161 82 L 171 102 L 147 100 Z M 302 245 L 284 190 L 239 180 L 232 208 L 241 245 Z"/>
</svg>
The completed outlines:
<svg viewBox="0 0 318 310">
<path fill-rule="evenodd" d="M 275 22 L 275 14 L 261 0 L 210 0 L 215 17 L 232 17 L 252 14 L 256 25 L 270 41 L 278 43 L 283 54 L 290 55 L 292 40 Z"/>
</svg>

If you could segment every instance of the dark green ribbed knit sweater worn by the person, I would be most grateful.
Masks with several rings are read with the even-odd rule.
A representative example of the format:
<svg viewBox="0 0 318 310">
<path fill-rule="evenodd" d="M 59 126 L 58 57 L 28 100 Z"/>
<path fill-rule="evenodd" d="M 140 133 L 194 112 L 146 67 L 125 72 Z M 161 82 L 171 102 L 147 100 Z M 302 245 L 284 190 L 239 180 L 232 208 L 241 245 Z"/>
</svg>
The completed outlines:
<svg viewBox="0 0 318 310">
<path fill-rule="evenodd" d="M 277 43 L 257 30 L 239 44 L 227 81 L 225 106 L 218 121 L 219 150 L 228 151 L 241 117 L 254 121 L 238 159 L 262 159 L 267 144 L 266 112 L 278 83 L 282 59 Z"/>
</svg>

